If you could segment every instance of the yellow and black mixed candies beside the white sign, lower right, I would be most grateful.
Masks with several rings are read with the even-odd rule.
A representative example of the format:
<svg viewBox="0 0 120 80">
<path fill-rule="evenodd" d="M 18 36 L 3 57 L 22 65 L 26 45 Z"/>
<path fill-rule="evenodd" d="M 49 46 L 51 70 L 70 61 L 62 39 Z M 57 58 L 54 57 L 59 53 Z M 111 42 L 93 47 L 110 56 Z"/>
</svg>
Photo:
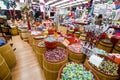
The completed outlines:
<svg viewBox="0 0 120 80">
<path fill-rule="evenodd" d="M 110 60 L 104 60 L 98 67 L 98 70 L 108 75 L 118 75 L 118 65 Z"/>
</svg>

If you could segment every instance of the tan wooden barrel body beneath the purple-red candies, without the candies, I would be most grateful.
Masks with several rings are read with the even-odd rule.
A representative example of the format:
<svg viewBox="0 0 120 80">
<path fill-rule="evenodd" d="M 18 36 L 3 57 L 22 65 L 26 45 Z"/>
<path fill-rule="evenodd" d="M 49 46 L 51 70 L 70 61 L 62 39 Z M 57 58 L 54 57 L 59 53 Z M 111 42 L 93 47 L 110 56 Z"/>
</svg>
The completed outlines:
<svg viewBox="0 0 120 80">
<path fill-rule="evenodd" d="M 56 80 L 58 76 L 59 69 L 61 66 L 68 62 L 68 57 L 59 62 L 50 62 L 47 61 L 45 55 L 43 57 L 43 71 L 46 77 L 46 80 Z"/>
</svg>

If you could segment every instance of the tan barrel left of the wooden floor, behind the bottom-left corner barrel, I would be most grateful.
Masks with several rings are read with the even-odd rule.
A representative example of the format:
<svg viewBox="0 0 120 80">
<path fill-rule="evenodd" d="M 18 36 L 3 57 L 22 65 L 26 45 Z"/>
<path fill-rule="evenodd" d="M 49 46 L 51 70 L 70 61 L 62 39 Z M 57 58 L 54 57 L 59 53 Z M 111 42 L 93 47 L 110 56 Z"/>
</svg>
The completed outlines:
<svg viewBox="0 0 120 80">
<path fill-rule="evenodd" d="M 0 54 L 5 59 L 10 69 L 16 65 L 16 57 L 9 43 L 0 47 Z"/>
</svg>

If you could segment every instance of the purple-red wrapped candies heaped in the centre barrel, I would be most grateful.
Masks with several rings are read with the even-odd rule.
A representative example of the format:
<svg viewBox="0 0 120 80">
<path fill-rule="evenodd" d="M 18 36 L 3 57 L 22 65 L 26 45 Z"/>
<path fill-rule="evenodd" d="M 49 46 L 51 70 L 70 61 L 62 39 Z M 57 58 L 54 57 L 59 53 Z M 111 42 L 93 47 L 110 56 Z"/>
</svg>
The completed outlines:
<svg viewBox="0 0 120 80">
<path fill-rule="evenodd" d="M 67 57 L 66 51 L 64 48 L 57 47 L 55 49 L 49 49 L 45 53 L 45 58 L 50 62 L 58 62 L 64 60 Z"/>
</svg>

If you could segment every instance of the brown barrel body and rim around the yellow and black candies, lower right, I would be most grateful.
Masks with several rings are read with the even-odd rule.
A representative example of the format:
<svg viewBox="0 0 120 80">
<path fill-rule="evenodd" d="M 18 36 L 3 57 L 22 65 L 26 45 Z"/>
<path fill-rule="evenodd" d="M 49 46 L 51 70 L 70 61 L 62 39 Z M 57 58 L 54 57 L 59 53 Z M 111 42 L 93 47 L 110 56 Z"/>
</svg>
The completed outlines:
<svg viewBox="0 0 120 80">
<path fill-rule="evenodd" d="M 103 55 L 99 55 L 102 58 L 104 58 L 106 61 L 110 60 L 111 62 L 114 63 L 114 61 L 112 61 L 110 58 L 103 56 Z M 89 61 L 88 61 L 88 57 L 86 58 L 86 61 L 84 63 L 85 66 L 87 66 L 89 69 L 91 69 L 94 73 L 96 73 L 96 75 L 99 77 L 100 80 L 119 80 L 120 76 L 119 75 L 111 75 L 111 74 L 107 74 L 105 72 L 100 71 L 97 67 L 93 66 Z M 105 65 L 105 64 L 103 64 Z M 108 68 L 108 67 L 107 67 Z"/>
</svg>

